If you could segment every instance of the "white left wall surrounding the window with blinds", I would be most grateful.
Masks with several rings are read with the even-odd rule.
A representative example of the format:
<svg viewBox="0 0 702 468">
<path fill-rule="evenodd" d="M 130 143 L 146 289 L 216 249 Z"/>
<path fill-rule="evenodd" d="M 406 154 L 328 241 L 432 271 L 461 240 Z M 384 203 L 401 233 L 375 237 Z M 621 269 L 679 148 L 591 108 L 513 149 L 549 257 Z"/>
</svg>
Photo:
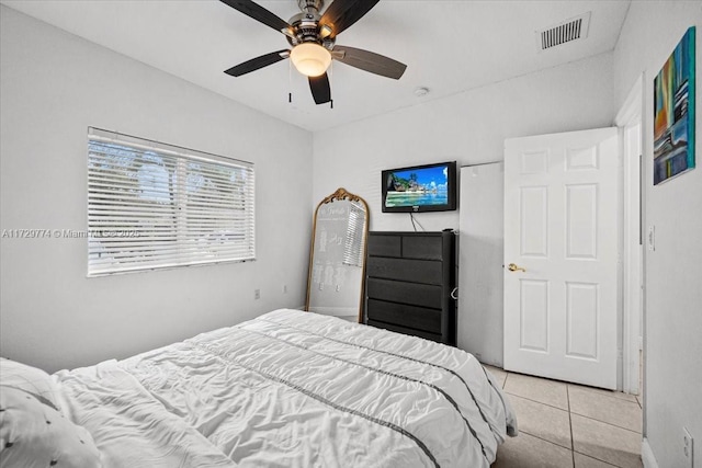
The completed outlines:
<svg viewBox="0 0 702 468">
<path fill-rule="evenodd" d="M 7 7 L 0 16 L 3 230 L 86 229 L 88 126 L 257 171 L 256 262 L 86 278 L 86 239 L 3 238 L 0 355 L 53 372 L 304 304 L 312 134 Z"/>
</svg>

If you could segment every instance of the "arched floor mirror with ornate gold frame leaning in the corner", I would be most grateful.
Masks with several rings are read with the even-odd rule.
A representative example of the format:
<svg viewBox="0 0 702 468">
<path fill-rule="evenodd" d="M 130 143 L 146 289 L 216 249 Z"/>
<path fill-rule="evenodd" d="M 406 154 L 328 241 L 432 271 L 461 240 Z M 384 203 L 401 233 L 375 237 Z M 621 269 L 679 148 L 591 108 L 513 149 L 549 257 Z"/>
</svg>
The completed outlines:
<svg viewBox="0 0 702 468">
<path fill-rule="evenodd" d="M 362 321 L 367 232 L 360 196 L 339 189 L 317 205 L 305 310 Z"/>
</svg>

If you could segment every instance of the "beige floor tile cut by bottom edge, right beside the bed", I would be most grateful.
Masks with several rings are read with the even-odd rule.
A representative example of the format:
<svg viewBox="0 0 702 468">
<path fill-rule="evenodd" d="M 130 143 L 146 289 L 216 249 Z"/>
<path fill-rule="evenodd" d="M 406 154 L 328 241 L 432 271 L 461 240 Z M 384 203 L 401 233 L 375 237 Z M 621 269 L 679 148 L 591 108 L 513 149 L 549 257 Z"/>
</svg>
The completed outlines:
<svg viewBox="0 0 702 468">
<path fill-rule="evenodd" d="M 508 437 L 497 450 L 492 468 L 568 468 L 573 452 L 525 433 Z"/>
</svg>

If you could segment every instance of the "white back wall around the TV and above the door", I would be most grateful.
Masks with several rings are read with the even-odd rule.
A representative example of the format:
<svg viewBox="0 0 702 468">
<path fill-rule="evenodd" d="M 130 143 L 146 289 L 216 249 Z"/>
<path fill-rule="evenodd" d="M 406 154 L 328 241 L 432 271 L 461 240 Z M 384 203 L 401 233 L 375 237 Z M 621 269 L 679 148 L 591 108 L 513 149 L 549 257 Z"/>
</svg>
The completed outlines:
<svg viewBox="0 0 702 468">
<path fill-rule="evenodd" d="M 372 230 L 411 230 L 409 215 L 381 212 L 381 170 L 499 161 L 505 138 L 609 126 L 611 81 L 604 54 L 315 133 L 313 202 L 343 186 L 367 202 Z M 458 228 L 455 212 L 415 217 L 426 230 Z"/>
</svg>

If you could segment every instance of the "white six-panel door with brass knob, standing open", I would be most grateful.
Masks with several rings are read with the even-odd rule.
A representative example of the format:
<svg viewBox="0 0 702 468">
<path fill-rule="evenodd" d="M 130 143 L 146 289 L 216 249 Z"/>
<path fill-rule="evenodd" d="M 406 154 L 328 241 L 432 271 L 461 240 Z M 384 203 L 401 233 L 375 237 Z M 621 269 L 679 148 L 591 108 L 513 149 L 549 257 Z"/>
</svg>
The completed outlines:
<svg viewBox="0 0 702 468">
<path fill-rule="evenodd" d="M 506 369 L 616 388 L 618 150 L 616 128 L 505 141 Z"/>
</svg>

